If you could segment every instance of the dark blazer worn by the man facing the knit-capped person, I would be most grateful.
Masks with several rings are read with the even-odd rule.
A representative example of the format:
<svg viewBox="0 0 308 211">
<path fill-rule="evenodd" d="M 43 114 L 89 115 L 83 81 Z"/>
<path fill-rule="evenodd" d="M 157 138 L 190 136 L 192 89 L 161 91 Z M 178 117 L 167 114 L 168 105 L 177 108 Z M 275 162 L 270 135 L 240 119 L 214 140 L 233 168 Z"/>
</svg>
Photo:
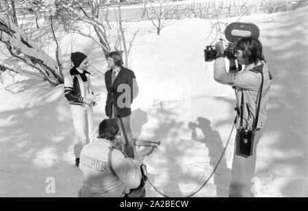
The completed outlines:
<svg viewBox="0 0 308 211">
<path fill-rule="evenodd" d="M 133 102 L 133 99 L 138 94 L 138 86 L 137 83 L 133 82 L 134 79 L 136 79 L 136 76 L 133 71 L 121 67 L 118 72 L 118 75 L 116 76 L 116 79 L 114 80 L 114 84 L 112 85 L 112 70 L 108 70 L 107 72 L 105 72 L 105 86 L 107 89 L 105 114 L 107 115 L 107 117 L 112 117 L 112 106 L 114 106 L 120 117 L 127 117 L 131 115 L 130 106 Z M 129 85 L 130 89 L 122 89 L 121 87 L 119 87 L 120 85 Z M 121 98 L 119 100 L 123 103 L 125 103 L 125 100 L 127 100 L 127 98 L 125 98 L 124 96 L 130 96 L 130 102 L 126 102 L 126 104 L 129 104 L 129 106 L 125 105 L 125 107 L 123 107 L 123 105 L 118 104 L 118 98 L 120 96 Z"/>
</svg>

